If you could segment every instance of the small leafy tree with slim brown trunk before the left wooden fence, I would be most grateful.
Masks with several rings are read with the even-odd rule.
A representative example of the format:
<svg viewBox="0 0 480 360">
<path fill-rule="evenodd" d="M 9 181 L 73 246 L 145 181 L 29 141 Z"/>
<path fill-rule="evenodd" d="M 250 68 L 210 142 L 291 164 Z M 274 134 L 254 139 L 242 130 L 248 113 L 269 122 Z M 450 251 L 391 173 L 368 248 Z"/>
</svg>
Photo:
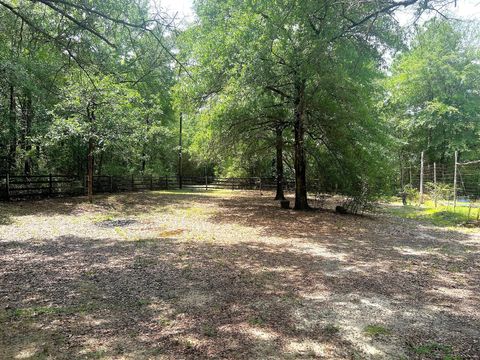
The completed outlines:
<svg viewBox="0 0 480 360">
<path fill-rule="evenodd" d="M 114 148 L 125 152 L 140 141 L 141 98 L 135 90 L 99 77 L 78 74 L 68 81 L 62 101 L 55 106 L 51 142 L 78 138 L 88 144 L 88 196 L 93 195 L 94 154 Z"/>
</svg>

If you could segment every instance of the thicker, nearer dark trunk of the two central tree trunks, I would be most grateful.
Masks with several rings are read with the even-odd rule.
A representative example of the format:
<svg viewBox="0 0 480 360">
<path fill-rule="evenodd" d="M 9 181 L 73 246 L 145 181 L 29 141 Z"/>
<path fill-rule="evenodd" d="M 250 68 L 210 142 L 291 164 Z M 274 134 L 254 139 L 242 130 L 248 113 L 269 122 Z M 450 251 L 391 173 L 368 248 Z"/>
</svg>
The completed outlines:
<svg viewBox="0 0 480 360">
<path fill-rule="evenodd" d="M 305 161 L 305 81 L 295 84 L 295 210 L 308 210 Z"/>
</svg>

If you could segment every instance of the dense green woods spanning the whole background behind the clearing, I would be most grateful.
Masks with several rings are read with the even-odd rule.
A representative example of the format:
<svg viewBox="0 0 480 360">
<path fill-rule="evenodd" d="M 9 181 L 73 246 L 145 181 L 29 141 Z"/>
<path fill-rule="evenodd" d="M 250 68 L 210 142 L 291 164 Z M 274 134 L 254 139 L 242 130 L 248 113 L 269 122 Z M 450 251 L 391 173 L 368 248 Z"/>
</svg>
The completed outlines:
<svg viewBox="0 0 480 360">
<path fill-rule="evenodd" d="M 2 0 L 0 173 L 181 164 L 275 177 L 277 199 L 295 179 L 297 209 L 313 187 L 392 193 L 421 151 L 480 156 L 478 32 L 455 3 L 199 0 L 185 25 L 148 1 Z"/>
</svg>

